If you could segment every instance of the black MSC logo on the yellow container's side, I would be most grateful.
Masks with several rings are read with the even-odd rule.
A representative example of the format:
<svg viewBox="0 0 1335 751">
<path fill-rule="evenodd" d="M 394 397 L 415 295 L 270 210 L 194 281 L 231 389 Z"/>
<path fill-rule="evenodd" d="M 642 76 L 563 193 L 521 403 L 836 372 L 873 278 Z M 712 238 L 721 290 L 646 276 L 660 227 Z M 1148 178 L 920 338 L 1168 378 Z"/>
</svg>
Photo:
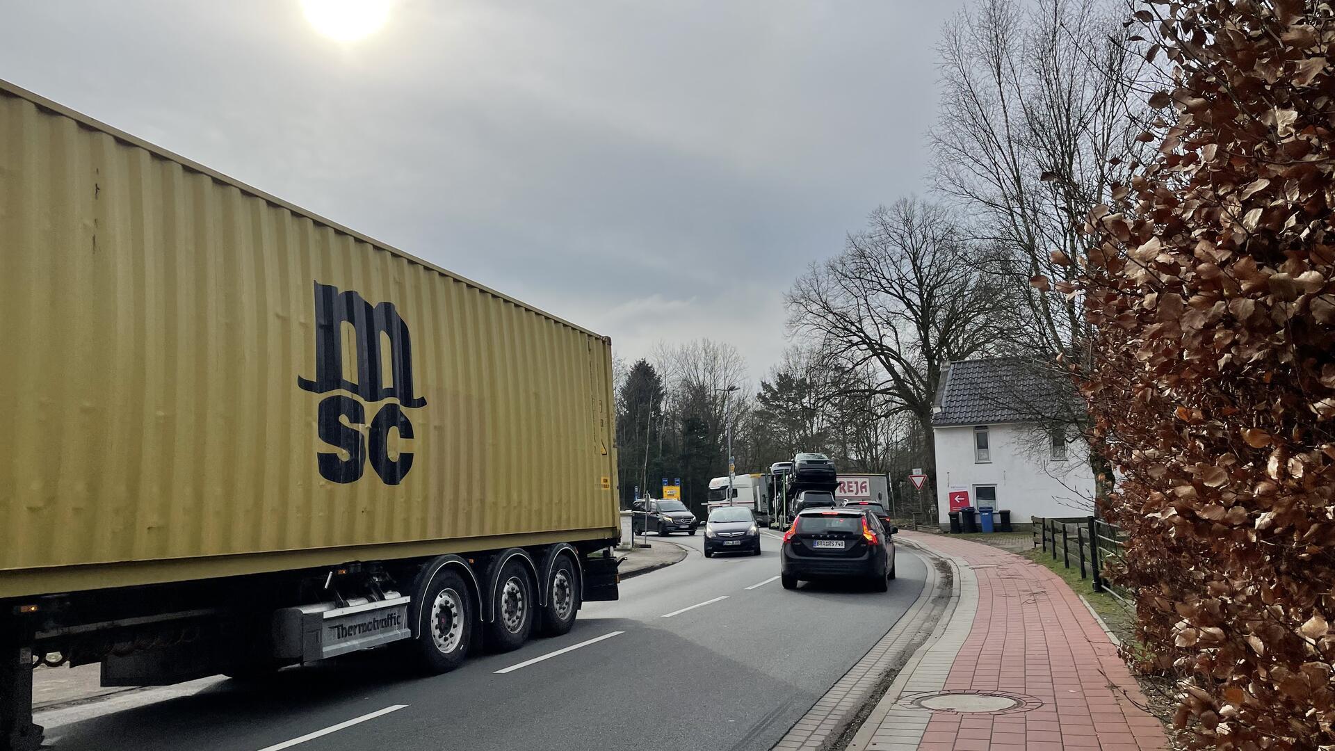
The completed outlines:
<svg viewBox="0 0 1335 751">
<path fill-rule="evenodd" d="M 343 323 L 352 326 L 355 382 L 343 378 Z M 386 347 L 380 345 L 382 334 L 388 338 L 392 378 L 388 386 L 383 382 Z M 399 453 L 396 460 L 390 458 L 390 430 L 398 430 L 400 438 L 411 438 L 413 422 L 403 409 L 426 406 L 426 400 L 413 393 L 409 325 L 392 302 L 372 306 L 352 290 L 340 293 L 332 285 L 315 282 L 315 380 L 298 376 L 296 385 L 316 394 L 347 392 L 356 397 L 335 394 L 320 401 L 320 440 L 347 453 L 347 458 L 342 458 L 336 452 L 318 452 L 322 477 L 332 482 L 356 482 L 370 460 L 371 469 L 386 485 L 403 481 L 413 468 L 413 454 Z M 391 401 L 382 406 L 363 437 L 359 429 L 366 424 L 363 402 L 384 400 L 398 404 Z"/>
</svg>

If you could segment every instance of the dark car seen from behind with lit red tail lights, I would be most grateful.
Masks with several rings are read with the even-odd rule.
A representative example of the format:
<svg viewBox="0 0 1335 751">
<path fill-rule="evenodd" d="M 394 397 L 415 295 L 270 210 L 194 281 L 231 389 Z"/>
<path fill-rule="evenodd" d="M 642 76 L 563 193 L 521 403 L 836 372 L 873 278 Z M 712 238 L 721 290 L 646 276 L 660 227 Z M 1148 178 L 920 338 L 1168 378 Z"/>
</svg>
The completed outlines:
<svg viewBox="0 0 1335 751">
<path fill-rule="evenodd" d="M 780 547 L 784 589 L 797 589 L 800 581 L 857 579 L 885 592 L 894 579 L 896 532 L 860 506 L 800 512 Z"/>
</svg>

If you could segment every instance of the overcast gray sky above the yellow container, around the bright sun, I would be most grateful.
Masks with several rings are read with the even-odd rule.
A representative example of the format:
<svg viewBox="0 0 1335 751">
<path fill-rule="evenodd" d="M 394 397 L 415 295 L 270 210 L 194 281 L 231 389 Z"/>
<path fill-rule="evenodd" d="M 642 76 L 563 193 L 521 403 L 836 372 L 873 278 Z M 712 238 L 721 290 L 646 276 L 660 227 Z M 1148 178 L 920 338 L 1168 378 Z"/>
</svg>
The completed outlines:
<svg viewBox="0 0 1335 751">
<path fill-rule="evenodd" d="M 613 337 L 728 341 L 924 190 L 961 0 L 5 0 L 0 78 Z"/>
</svg>

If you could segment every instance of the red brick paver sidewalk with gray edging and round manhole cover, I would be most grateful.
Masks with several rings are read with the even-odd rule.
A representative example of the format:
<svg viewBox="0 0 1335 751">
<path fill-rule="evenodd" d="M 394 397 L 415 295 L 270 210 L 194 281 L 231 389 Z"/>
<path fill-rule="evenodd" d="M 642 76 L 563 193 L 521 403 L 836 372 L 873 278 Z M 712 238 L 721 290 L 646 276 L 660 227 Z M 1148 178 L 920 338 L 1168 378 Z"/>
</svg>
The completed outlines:
<svg viewBox="0 0 1335 751">
<path fill-rule="evenodd" d="M 1145 698 L 1116 647 L 1059 576 L 988 545 L 901 535 L 953 561 L 960 600 L 951 621 L 918 661 L 905 667 L 850 748 L 1167 747 L 1163 726 L 1140 708 Z M 987 692 L 1019 704 L 963 712 L 916 703 L 934 704 L 929 696 L 941 692 Z"/>
</svg>

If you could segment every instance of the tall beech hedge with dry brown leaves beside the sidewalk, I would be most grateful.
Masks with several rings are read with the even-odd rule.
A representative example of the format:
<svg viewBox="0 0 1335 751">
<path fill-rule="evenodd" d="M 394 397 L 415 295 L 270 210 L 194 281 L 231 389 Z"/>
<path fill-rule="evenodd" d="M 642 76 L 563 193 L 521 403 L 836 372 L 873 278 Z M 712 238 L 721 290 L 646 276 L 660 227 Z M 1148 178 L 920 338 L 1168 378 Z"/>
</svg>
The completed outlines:
<svg viewBox="0 0 1335 751">
<path fill-rule="evenodd" d="M 1152 3 L 1160 144 L 1089 216 L 1083 385 L 1119 468 L 1140 667 L 1197 747 L 1335 743 L 1335 19 Z M 1036 279 L 1035 283 L 1044 283 Z"/>
</svg>

